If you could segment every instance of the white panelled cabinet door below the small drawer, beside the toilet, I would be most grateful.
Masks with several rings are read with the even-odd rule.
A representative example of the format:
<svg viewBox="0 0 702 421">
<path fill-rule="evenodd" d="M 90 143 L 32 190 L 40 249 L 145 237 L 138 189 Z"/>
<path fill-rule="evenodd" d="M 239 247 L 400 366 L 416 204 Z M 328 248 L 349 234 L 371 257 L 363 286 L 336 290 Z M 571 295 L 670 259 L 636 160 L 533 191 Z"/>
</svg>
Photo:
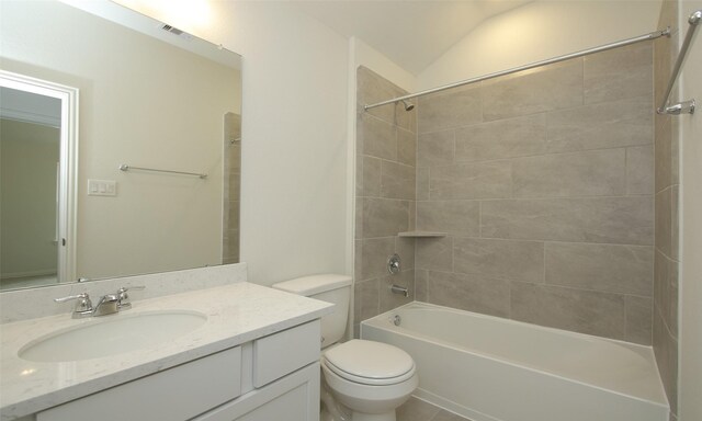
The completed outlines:
<svg viewBox="0 0 702 421">
<path fill-rule="evenodd" d="M 319 362 L 192 421 L 319 421 Z"/>
</svg>

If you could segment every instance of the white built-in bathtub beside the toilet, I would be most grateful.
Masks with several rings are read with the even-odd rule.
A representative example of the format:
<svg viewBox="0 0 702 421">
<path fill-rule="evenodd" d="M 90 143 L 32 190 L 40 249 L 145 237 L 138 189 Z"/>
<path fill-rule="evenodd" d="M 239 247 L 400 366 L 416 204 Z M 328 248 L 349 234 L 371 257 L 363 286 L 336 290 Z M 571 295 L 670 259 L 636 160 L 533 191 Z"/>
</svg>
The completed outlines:
<svg viewBox="0 0 702 421">
<path fill-rule="evenodd" d="M 648 346 L 424 303 L 363 321 L 361 338 L 407 351 L 415 396 L 473 421 L 668 420 Z"/>
</svg>

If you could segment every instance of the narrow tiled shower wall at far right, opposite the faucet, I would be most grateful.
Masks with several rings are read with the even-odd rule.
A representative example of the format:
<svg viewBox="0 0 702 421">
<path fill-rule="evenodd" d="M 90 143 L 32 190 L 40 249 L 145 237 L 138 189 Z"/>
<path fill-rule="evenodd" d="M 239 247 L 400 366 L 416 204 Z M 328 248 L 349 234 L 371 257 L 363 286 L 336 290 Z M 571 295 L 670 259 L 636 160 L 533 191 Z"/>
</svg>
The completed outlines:
<svg viewBox="0 0 702 421">
<path fill-rule="evenodd" d="M 678 2 L 663 3 L 659 29 L 677 31 Z M 670 70 L 678 54 L 677 36 L 654 44 L 654 90 L 656 105 L 663 101 Z M 677 101 L 672 94 L 672 101 Z M 656 115 L 656 244 L 654 263 L 654 351 L 660 378 L 670 402 L 671 419 L 678 411 L 678 200 L 680 171 L 679 137 L 676 116 Z"/>
</svg>

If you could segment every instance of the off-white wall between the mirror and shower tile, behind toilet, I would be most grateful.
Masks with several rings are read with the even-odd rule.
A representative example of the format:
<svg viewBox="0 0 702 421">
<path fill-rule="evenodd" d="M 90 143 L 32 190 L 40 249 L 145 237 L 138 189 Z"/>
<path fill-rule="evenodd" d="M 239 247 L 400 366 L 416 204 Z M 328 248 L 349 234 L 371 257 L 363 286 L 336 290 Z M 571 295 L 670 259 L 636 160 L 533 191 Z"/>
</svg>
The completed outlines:
<svg viewBox="0 0 702 421">
<path fill-rule="evenodd" d="M 202 3 L 208 20 L 168 23 L 244 56 L 241 261 L 249 281 L 346 272 L 348 39 L 285 2 Z"/>
</svg>

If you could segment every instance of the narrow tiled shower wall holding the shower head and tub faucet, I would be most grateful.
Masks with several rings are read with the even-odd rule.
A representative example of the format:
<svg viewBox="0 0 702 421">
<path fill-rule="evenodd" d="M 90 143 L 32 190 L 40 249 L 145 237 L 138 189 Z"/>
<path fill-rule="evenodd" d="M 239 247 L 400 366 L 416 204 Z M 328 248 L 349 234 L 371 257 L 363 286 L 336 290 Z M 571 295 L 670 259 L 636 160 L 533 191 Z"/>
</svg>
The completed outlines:
<svg viewBox="0 0 702 421">
<path fill-rule="evenodd" d="M 389 291 L 393 283 L 415 286 L 415 240 L 398 237 L 415 225 L 416 111 L 363 104 L 407 94 L 373 71 L 356 71 L 356 183 L 354 258 L 354 334 L 359 322 L 412 300 Z M 387 259 L 398 253 L 400 273 L 390 275 Z"/>
</svg>

